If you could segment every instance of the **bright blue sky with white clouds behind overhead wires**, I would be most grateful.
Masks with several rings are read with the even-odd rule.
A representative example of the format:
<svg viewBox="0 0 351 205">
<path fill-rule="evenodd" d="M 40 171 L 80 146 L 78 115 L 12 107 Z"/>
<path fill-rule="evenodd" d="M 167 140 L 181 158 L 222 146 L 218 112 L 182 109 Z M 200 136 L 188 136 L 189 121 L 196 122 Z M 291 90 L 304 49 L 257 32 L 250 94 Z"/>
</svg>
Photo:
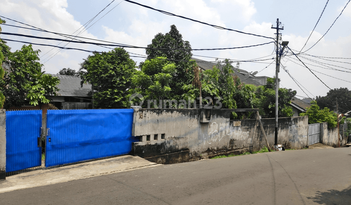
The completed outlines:
<svg viewBox="0 0 351 205">
<path fill-rule="evenodd" d="M 165 15 L 124 0 L 1 0 L 0 18 L 6 21 L 1 28 L 2 32 L 7 33 L 65 39 L 56 34 L 11 25 L 26 28 L 35 26 L 50 32 L 146 47 L 156 34 L 169 32 L 170 26 L 174 24 L 183 40 L 189 41 L 193 49 L 233 48 L 274 41 L 270 38 L 275 38 L 276 31 L 271 27 L 276 27 L 276 21 L 279 19 L 280 26 L 284 26 L 284 30 L 281 30 L 281 41 L 289 41 L 288 46 L 295 54 L 304 47 L 314 27 L 302 52 L 320 40 L 310 50 L 297 55 L 310 70 L 302 65 L 289 49 L 284 50 L 278 75 L 280 87 L 296 90 L 300 99 L 326 96 L 327 92 L 334 88 L 346 87 L 351 90 L 351 3 L 347 5 L 349 0 L 134 1 L 197 21 L 269 38 L 217 29 Z M 106 7 L 109 3 L 111 4 Z M 336 20 L 341 12 L 341 16 Z M 109 51 L 114 48 L 4 34 L 0 34 L 0 38 L 90 51 Z M 7 44 L 12 52 L 19 50 L 23 44 L 28 45 L 14 41 L 7 41 Z M 39 58 L 43 64 L 43 71 L 51 74 L 57 74 L 62 68 L 78 71 L 83 59 L 92 55 L 85 51 L 60 50 L 43 45 L 33 45 L 33 48 L 41 51 Z M 137 64 L 145 60 L 140 58 L 145 57 L 145 49 L 126 50 Z M 234 61 L 233 65 L 240 62 L 240 69 L 248 72 L 258 71 L 256 76 L 275 76 L 274 43 L 249 48 L 193 51 L 193 55 L 194 58 L 211 62 L 216 58 L 231 59 Z"/>
</svg>

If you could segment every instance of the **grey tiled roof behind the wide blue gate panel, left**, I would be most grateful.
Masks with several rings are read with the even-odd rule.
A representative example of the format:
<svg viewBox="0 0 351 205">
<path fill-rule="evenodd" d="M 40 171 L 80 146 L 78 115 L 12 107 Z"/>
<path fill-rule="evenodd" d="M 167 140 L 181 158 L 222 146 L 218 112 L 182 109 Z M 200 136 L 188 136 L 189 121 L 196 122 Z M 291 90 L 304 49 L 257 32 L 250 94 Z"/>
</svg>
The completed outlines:
<svg viewBox="0 0 351 205">
<path fill-rule="evenodd" d="M 83 87 L 80 86 L 80 77 L 77 76 L 64 76 L 64 75 L 53 75 L 59 78 L 60 83 L 58 85 L 60 96 L 69 97 L 91 97 L 89 92 L 92 90 L 90 83 L 84 83 Z"/>
</svg>

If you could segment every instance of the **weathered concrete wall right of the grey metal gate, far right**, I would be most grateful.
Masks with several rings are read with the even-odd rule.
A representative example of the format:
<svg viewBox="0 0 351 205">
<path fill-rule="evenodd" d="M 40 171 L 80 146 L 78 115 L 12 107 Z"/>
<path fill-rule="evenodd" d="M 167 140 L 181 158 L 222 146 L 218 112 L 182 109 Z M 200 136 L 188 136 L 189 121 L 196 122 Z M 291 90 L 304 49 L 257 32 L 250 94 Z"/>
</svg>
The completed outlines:
<svg viewBox="0 0 351 205">
<path fill-rule="evenodd" d="M 343 126 L 347 126 L 346 124 L 340 125 L 340 131 L 342 135 L 342 139 L 340 140 L 340 146 L 343 146 L 347 143 L 348 136 L 346 133 L 342 133 Z M 339 146 L 339 138 L 338 138 L 338 128 L 328 128 L 328 123 L 323 123 L 323 131 L 322 131 L 322 143 L 327 144 L 329 146 L 338 147 Z"/>
</svg>

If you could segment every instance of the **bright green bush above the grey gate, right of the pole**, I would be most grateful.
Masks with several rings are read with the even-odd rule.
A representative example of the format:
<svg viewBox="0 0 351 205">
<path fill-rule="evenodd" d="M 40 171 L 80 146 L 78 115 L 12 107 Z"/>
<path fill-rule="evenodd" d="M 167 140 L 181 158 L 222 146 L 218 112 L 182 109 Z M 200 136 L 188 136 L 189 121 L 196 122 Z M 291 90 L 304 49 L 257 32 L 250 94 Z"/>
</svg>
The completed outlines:
<svg viewBox="0 0 351 205">
<path fill-rule="evenodd" d="M 337 115 L 335 112 L 330 111 L 327 107 L 320 109 L 315 101 L 312 101 L 311 104 L 311 107 L 307 108 L 306 112 L 300 114 L 300 116 L 309 117 L 309 124 L 327 122 L 329 128 L 337 125 Z"/>
</svg>

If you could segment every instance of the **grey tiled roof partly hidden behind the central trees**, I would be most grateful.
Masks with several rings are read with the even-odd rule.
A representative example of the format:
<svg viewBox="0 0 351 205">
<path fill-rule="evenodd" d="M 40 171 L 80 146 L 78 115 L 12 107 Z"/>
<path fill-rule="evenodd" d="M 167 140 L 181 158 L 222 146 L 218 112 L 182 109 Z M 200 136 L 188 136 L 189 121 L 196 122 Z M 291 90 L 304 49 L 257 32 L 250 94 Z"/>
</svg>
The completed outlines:
<svg viewBox="0 0 351 205">
<path fill-rule="evenodd" d="M 213 66 L 215 66 L 217 63 L 214 63 L 214 62 L 207 62 L 207 61 L 204 61 L 204 60 L 200 60 L 200 59 L 195 59 L 195 58 L 192 58 L 192 60 L 195 60 L 196 64 L 203 70 L 210 70 L 213 68 Z M 219 67 L 220 70 L 222 70 L 222 67 Z M 242 69 L 234 69 L 234 74 L 233 75 L 236 75 L 237 77 L 239 77 L 240 81 L 245 83 L 245 84 L 253 84 L 255 86 L 259 86 L 259 85 L 263 85 L 259 82 L 256 82 L 254 81 L 249 75 L 248 75 L 248 71 L 246 70 L 242 70 Z M 247 75 L 245 75 L 245 73 Z"/>
</svg>

